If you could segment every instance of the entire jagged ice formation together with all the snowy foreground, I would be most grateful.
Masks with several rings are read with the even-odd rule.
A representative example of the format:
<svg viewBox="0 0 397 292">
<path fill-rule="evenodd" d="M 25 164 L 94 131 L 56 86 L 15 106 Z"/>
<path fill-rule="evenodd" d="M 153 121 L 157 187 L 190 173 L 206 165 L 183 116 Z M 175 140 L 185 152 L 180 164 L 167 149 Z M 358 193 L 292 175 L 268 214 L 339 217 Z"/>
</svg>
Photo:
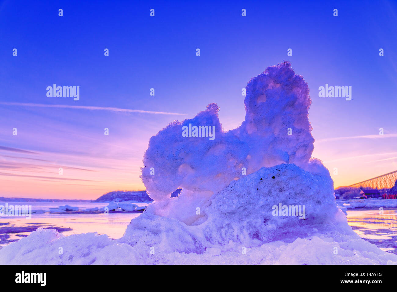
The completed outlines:
<svg viewBox="0 0 397 292">
<path fill-rule="evenodd" d="M 237 129 L 224 132 L 210 104 L 150 138 L 142 180 L 154 202 L 119 240 L 38 230 L 0 250 L 0 264 L 396 264 L 335 204 L 328 169 L 311 158 L 308 86 L 291 64 L 268 67 L 246 89 Z M 215 139 L 183 137 L 189 123 L 215 126 Z M 280 203 L 305 206 L 305 218 L 273 216 Z"/>
</svg>

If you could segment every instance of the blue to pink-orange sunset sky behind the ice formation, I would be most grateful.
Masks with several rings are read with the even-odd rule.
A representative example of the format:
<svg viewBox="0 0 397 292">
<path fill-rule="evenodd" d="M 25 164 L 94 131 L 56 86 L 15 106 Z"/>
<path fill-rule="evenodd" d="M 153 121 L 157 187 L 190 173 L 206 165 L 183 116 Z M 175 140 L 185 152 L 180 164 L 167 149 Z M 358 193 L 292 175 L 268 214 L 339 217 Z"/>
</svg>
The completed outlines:
<svg viewBox="0 0 397 292">
<path fill-rule="evenodd" d="M 143 190 L 151 136 L 212 102 L 225 130 L 238 127 L 241 88 L 283 60 L 308 83 L 313 157 L 335 187 L 395 171 L 396 23 L 395 1 L 0 1 L 0 196 Z M 54 83 L 80 86 L 80 99 L 47 97 Z M 352 86 L 352 100 L 319 97 L 326 83 Z"/>
</svg>

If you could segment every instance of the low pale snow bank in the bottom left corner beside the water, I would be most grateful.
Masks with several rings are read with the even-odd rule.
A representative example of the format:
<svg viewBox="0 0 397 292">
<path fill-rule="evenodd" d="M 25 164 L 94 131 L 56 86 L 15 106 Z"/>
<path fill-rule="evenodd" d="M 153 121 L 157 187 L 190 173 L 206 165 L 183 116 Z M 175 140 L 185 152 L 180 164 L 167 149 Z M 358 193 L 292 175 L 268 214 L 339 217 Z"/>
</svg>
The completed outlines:
<svg viewBox="0 0 397 292">
<path fill-rule="evenodd" d="M 4 248 L 6 248 L 5 251 Z M 139 263 L 138 254 L 127 244 L 107 235 L 84 233 L 64 236 L 54 229 L 37 229 L 29 236 L 2 248 L 0 264 L 88 265 Z"/>
</svg>

